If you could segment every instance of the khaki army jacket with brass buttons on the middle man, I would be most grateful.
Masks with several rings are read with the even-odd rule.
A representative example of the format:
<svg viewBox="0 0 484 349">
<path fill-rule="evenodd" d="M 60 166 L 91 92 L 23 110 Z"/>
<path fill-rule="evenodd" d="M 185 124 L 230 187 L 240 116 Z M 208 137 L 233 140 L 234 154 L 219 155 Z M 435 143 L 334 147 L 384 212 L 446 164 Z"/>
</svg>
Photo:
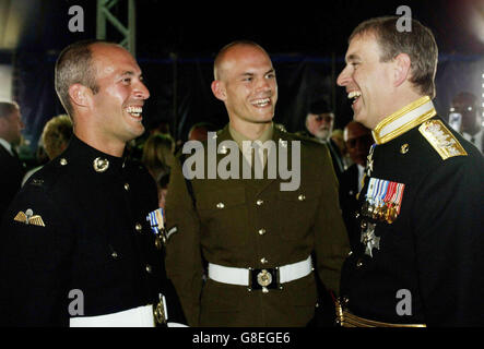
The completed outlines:
<svg viewBox="0 0 484 349">
<path fill-rule="evenodd" d="M 216 134 L 217 144 L 226 140 L 232 140 L 228 127 Z M 187 185 L 182 161 L 173 168 L 166 219 L 176 232 L 168 238 L 166 270 L 192 326 L 305 326 L 315 314 L 314 273 L 282 289 L 249 291 L 210 278 L 204 281 L 206 262 L 271 268 L 314 253 L 324 286 L 339 290 L 349 242 L 328 148 L 276 129 L 272 140 L 285 144 L 288 164 L 292 141 L 300 142 L 300 185 L 295 191 L 281 191 L 280 184 L 288 180 L 279 172 L 276 179 L 267 173 L 264 179 L 194 178 Z M 206 155 L 206 142 L 203 145 Z M 217 154 L 217 164 L 225 156 Z M 241 164 L 244 157 L 239 158 Z"/>
</svg>

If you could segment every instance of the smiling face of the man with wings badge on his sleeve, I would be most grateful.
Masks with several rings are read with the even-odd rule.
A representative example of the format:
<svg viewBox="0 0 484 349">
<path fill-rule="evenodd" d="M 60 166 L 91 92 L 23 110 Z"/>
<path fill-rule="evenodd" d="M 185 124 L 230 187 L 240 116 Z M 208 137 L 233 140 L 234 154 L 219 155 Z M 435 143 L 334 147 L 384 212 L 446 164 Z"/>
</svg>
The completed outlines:
<svg viewBox="0 0 484 349">
<path fill-rule="evenodd" d="M 115 45 L 94 44 L 98 92 L 92 95 L 95 131 L 105 142 L 126 143 L 144 132 L 142 110 L 150 92 L 134 58 Z"/>
</svg>

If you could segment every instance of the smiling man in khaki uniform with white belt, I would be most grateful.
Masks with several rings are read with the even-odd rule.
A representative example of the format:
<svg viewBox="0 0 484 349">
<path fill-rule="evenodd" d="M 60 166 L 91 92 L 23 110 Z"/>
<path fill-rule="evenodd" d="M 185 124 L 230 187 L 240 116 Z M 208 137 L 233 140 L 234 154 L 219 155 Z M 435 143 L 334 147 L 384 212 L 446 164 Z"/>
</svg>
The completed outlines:
<svg viewBox="0 0 484 349">
<path fill-rule="evenodd" d="M 176 232 L 167 242 L 167 274 L 191 326 L 306 326 L 318 302 L 312 266 L 338 293 L 349 251 L 331 157 L 324 145 L 273 127 L 278 85 L 260 46 L 227 45 L 214 74 L 212 91 L 229 123 L 196 147 L 204 176 L 191 178 L 187 164 L 193 165 L 193 155 L 172 169 L 166 218 Z M 275 146 L 252 157 L 247 141 Z M 240 176 L 226 178 L 223 161 L 235 154 L 229 170 Z M 262 179 L 258 163 L 244 179 L 248 164 L 261 158 Z M 292 178 L 281 168 L 291 168 Z"/>
</svg>

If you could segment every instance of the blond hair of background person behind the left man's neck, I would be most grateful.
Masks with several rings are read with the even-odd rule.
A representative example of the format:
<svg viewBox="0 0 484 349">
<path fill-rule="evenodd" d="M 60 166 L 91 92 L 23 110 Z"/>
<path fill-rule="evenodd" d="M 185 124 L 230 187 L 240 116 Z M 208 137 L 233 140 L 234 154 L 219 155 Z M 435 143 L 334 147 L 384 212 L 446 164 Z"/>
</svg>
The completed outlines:
<svg viewBox="0 0 484 349">
<path fill-rule="evenodd" d="M 54 117 L 44 127 L 40 140 L 49 159 L 59 156 L 72 136 L 72 121 L 67 115 Z"/>
</svg>

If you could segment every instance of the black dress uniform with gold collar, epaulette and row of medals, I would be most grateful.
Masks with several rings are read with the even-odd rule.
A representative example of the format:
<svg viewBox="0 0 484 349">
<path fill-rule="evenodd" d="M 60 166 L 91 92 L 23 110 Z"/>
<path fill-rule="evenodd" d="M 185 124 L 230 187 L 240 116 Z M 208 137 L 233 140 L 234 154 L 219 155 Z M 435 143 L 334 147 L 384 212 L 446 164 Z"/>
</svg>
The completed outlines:
<svg viewBox="0 0 484 349">
<path fill-rule="evenodd" d="M 343 326 L 484 325 L 484 160 L 423 97 L 375 129 Z"/>
</svg>

